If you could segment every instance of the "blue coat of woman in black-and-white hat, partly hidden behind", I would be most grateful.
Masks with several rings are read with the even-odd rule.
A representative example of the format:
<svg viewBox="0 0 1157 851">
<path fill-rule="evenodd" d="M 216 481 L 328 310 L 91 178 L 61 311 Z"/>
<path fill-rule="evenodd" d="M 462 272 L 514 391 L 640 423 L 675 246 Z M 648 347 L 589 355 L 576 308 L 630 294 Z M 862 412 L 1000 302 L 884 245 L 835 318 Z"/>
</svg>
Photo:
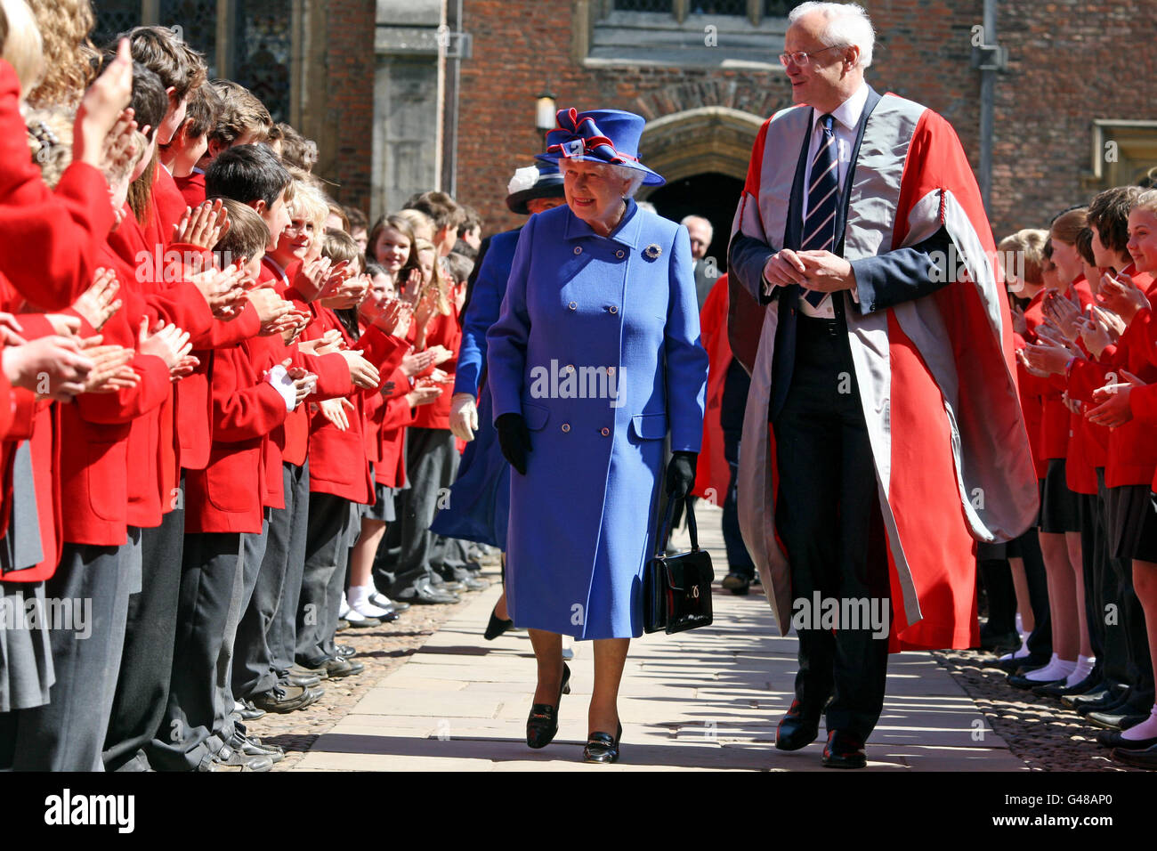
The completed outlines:
<svg viewBox="0 0 1157 851">
<path fill-rule="evenodd" d="M 491 421 L 489 387 L 484 386 L 479 393 L 479 382 L 486 365 L 486 332 L 498 322 L 517 244 L 518 230 L 507 230 L 495 234 L 482 247 L 470 303 L 462 317 L 462 344 L 454 381 L 455 394 L 478 396 L 478 431 L 462 453 L 450 499 L 430 526 L 430 531 L 437 535 L 477 541 L 500 550 L 507 548 L 510 464 L 502 457 L 498 432 Z"/>
</svg>

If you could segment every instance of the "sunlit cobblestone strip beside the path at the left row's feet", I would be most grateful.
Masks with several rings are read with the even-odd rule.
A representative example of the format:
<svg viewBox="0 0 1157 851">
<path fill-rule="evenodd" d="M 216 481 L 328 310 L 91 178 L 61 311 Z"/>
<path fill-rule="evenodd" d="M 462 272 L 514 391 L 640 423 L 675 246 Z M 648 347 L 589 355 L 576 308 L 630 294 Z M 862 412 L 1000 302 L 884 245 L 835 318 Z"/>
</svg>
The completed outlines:
<svg viewBox="0 0 1157 851">
<path fill-rule="evenodd" d="M 485 579 L 498 582 L 499 575 L 496 558 L 482 562 Z M 470 596 L 467 594 L 464 602 Z M 339 632 L 338 644 L 355 647 L 356 659 L 366 666 L 366 670 L 355 676 L 323 680 L 325 695 L 312 706 L 285 714 L 270 712 L 249 724 L 249 731 L 261 741 L 285 748 L 286 758 L 274 765 L 273 770 L 288 771 L 297 764 L 322 733 L 341 720 L 383 676 L 405 665 L 406 660 L 426 644 L 426 639 L 437 632 L 439 626 L 462 603 L 411 606 L 391 624 Z"/>
</svg>

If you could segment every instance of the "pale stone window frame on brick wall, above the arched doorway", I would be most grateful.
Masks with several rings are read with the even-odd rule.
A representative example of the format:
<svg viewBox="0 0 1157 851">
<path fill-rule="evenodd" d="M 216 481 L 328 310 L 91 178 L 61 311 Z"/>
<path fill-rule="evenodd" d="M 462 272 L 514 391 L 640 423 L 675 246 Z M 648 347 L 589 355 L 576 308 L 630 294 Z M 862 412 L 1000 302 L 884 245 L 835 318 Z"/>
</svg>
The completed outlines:
<svg viewBox="0 0 1157 851">
<path fill-rule="evenodd" d="M 574 60 L 585 67 L 662 65 L 779 71 L 788 19 L 762 14 L 697 15 L 695 0 L 673 0 L 672 12 L 622 12 L 614 0 L 575 0 Z M 583 25 L 585 24 L 585 25 Z M 712 43 L 713 42 L 713 43 Z"/>
</svg>

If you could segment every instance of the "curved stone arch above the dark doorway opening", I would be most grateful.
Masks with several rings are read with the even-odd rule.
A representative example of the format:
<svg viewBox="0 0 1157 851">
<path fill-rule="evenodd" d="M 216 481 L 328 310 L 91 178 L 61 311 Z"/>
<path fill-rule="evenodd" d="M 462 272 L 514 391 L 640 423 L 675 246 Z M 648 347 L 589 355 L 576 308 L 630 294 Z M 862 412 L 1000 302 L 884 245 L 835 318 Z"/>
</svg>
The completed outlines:
<svg viewBox="0 0 1157 851">
<path fill-rule="evenodd" d="M 647 123 L 640 159 L 668 182 L 708 171 L 744 179 L 765 118 L 729 107 L 699 107 Z M 644 191 L 648 190 L 648 191 Z M 642 188 L 640 198 L 649 195 Z"/>
</svg>

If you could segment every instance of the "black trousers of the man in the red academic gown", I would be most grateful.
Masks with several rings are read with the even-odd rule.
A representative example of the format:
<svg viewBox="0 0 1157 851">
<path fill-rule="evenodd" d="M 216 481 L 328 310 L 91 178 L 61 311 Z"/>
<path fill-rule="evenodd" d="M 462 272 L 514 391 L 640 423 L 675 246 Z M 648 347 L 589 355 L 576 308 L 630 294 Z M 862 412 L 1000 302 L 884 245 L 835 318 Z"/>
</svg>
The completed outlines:
<svg viewBox="0 0 1157 851">
<path fill-rule="evenodd" d="M 887 551 L 868 428 L 842 320 L 799 317 L 795 368 L 775 416 L 776 528 L 791 564 L 794 608 L 869 601 L 891 618 Z M 846 602 L 845 602 L 846 601 Z M 867 739 L 884 707 L 887 636 L 867 624 L 798 629 L 796 699 L 827 729 Z M 853 629 L 852 626 L 857 626 Z"/>
</svg>

